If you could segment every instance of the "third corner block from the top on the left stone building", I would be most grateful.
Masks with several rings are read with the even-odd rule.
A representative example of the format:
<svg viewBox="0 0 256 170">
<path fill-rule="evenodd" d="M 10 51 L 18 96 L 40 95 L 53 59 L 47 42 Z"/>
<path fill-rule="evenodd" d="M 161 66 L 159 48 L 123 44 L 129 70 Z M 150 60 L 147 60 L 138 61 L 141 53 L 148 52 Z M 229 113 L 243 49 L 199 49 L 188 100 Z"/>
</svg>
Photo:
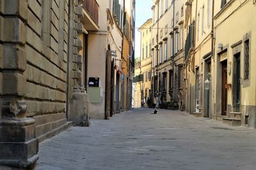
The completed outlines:
<svg viewBox="0 0 256 170">
<path fill-rule="evenodd" d="M 26 69 L 26 52 L 19 46 L 0 46 L 1 50 L 1 66 L 3 69 Z M 2 51 L 3 50 L 3 51 Z"/>
</svg>

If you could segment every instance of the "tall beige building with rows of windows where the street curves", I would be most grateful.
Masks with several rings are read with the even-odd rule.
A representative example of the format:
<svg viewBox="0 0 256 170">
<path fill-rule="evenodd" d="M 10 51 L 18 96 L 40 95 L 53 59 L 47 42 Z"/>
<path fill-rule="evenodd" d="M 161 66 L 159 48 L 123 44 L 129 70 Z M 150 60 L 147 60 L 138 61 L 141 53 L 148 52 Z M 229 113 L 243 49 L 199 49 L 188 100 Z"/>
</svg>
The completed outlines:
<svg viewBox="0 0 256 170">
<path fill-rule="evenodd" d="M 152 6 L 152 76 L 154 96 L 161 92 L 161 102 L 169 107 L 184 106 L 184 18 L 185 1 L 153 1 Z M 155 101 L 156 102 L 156 101 Z"/>
</svg>

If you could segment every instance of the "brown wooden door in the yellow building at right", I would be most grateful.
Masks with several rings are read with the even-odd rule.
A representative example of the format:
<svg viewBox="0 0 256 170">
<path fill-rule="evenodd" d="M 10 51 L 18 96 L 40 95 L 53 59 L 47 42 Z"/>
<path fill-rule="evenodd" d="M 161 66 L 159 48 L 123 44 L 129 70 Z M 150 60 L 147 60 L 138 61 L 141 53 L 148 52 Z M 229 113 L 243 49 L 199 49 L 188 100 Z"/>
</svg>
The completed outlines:
<svg viewBox="0 0 256 170">
<path fill-rule="evenodd" d="M 227 116 L 227 60 L 221 62 L 221 116 Z"/>
</svg>

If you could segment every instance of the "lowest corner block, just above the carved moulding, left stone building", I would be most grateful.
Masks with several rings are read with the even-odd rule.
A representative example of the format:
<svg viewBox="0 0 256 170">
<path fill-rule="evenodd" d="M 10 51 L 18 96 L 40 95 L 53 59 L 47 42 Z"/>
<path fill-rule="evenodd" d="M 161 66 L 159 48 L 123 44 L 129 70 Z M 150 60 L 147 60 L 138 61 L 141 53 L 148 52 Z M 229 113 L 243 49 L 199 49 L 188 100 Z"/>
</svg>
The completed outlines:
<svg viewBox="0 0 256 170">
<path fill-rule="evenodd" d="M 3 94 L 24 96 L 26 77 L 20 73 L 3 73 Z"/>
</svg>

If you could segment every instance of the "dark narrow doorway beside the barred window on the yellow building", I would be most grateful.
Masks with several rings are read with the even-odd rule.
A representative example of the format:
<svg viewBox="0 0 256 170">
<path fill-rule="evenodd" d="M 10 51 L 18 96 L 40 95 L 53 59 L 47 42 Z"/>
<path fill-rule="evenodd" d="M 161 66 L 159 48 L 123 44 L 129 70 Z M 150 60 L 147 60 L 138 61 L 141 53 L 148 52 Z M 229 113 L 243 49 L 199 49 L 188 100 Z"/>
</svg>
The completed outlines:
<svg viewBox="0 0 256 170">
<path fill-rule="evenodd" d="M 240 112 L 241 106 L 241 53 L 234 55 L 234 71 L 233 71 L 233 109 Z"/>
</svg>

